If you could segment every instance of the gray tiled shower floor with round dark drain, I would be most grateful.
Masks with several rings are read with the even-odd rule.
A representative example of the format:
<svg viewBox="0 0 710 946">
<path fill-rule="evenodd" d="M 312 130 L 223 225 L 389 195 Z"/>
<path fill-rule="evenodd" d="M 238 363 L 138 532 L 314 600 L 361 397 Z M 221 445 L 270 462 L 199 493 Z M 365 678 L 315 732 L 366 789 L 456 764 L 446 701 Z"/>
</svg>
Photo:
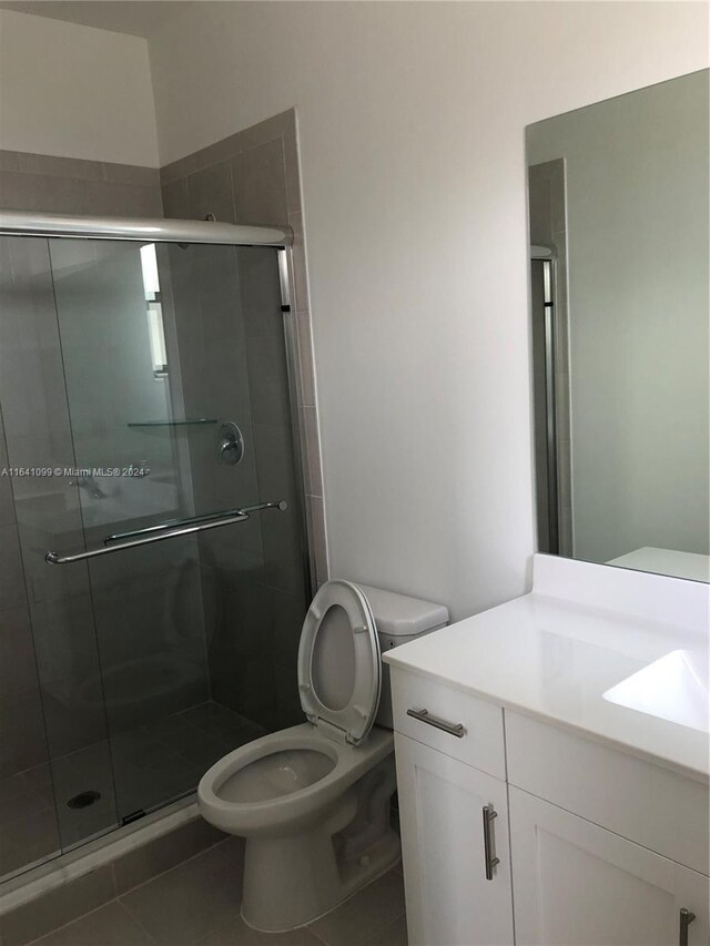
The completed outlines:
<svg viewBox="0 0 710 946">
<path fill-rule="evenodd" d="M 193 791 L 206 770 L 265 730 L 217 703 L 202 703 L 108 742 L 0 780 L 0 878 L 103 834 L 138 808 Z M 69 808 L 85 790 L 95 804 Z M 54 793 L 57 807 L 54 807 Z"/>
</svg>

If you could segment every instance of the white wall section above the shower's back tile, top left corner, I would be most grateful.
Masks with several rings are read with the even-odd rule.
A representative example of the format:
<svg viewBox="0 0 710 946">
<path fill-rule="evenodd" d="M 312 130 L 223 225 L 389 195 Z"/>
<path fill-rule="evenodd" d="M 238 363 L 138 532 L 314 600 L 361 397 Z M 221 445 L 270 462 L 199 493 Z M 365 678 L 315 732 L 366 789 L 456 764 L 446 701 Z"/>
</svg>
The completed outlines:
<svg viewBox="0 0 710 946">
<path fill-rule="evenodd" d="M 158 166 L 146 41 L 0 10 L 0 149 Z"/>
</svg>

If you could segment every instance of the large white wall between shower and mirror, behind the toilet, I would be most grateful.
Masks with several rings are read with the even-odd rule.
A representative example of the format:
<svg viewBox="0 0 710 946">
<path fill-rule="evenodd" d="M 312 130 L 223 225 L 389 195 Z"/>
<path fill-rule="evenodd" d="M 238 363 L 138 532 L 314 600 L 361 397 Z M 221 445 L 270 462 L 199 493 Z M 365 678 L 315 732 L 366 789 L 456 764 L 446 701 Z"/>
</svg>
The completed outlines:
<svg viewBox="0 0 710 946">
<path fill-rule="evenodd" d="M 151 41 L 162 163 L 297 108 L 333 574 L 524 591 L 524 126 L 707 65 L 707 10 L 202 2 Z"/>
</svg>

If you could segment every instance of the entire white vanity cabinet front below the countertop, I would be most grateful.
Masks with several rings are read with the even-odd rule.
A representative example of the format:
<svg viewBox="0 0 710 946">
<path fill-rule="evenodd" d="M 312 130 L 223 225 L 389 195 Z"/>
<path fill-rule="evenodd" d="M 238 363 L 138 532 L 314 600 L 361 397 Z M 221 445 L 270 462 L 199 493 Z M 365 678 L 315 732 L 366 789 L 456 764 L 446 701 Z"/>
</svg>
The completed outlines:
<svg viewBox="0 0 710 946">
<path fill-rule="evenodd" d="M 707 785 L 392 677 L 410 946 L 708 946 Z"/>
</svg>

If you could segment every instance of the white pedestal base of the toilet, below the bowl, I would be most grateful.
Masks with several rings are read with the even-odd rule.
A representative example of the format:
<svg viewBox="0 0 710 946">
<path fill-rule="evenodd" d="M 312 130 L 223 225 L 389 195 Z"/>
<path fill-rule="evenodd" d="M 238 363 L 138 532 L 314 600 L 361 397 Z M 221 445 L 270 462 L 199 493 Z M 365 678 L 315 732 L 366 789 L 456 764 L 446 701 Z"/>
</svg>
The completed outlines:
<svg viewBox="0 0 710 946">
<path fill-rule="evenodd" d="M 383 760 L 323 812 L 317 828 L 246 838 L 242 919 L 264 933 L 305 926 L 329 913 L 399 859 L 389 827 L 394 760 Z"/>
</svg>

